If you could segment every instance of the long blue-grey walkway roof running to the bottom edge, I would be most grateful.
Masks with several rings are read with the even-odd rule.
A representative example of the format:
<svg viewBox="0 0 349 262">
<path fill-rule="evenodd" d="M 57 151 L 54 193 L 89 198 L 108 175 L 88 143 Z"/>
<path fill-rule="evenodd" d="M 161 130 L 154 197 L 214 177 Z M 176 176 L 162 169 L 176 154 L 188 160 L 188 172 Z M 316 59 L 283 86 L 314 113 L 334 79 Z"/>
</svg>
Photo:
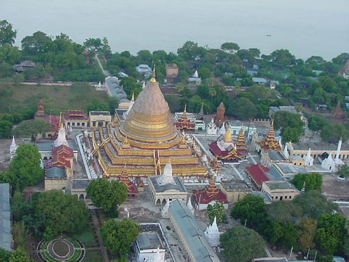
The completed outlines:
<svg viewBox="0 0 349 262">
<path fill-rule="evenodd" d="M 178 233 L 183 236 L 182 241 L 186 242 L 195 261 L 219 262 L 216 253 L 205 238 L 205 233 L 200 229 L 198 221 L 193 217 L 185 203 L 178 199 L 172 201 L 170 203 L 170 216 L 177 224 L 177 230 L 180 231 Z"/>
</svg>

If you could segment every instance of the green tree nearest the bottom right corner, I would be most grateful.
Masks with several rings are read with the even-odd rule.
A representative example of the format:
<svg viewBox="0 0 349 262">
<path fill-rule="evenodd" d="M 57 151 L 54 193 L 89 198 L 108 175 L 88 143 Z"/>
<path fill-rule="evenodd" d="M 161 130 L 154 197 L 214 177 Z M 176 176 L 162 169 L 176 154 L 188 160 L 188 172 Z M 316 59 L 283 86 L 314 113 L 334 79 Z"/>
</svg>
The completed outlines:
<svg viewBox="0 0 349 262">
<path fill-rule="evenodd" d="M 333 255 L 342 251 L 346 235 L 345 222 L 346 218 L 339 213 L 322 214 L 318 218 L 315 242 L 325 254 Z"/>
</svg>

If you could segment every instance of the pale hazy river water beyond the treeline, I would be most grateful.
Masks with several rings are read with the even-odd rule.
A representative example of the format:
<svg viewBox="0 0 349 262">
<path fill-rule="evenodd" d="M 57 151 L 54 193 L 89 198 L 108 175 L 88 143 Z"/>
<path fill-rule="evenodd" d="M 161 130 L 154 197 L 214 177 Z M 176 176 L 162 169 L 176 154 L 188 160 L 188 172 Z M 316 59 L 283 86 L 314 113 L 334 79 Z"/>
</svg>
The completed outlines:
<svg viewBox="0 0 349 262">
<path fill-rule="evenodd" d="M 349 0 L 0 0 L 0 20 L 24 36 L 63 32 L 109 40 L 112 52 L 176 52 L 187 40 L 235 42 L 262 54 L 285 48 L 327 60 L 349 52 Z"/>
</svg>

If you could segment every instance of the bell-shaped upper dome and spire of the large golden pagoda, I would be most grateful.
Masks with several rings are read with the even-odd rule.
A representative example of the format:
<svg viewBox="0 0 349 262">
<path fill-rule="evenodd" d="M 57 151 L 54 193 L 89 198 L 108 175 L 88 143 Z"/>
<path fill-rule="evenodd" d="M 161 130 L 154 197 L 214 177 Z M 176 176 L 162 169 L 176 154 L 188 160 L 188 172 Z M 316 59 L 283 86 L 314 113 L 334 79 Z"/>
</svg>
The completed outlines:
<svg viewBox="0 0 349 262">
<path fill-rule="evenodd" d="M 120 132 L 131 140 L 147 143 L 159 143 L 174 139 L 179 140 L 173 125 L 168 103 L 163 97 L 155 74 L 140 92 L 127 115 Z"/>
</svg>

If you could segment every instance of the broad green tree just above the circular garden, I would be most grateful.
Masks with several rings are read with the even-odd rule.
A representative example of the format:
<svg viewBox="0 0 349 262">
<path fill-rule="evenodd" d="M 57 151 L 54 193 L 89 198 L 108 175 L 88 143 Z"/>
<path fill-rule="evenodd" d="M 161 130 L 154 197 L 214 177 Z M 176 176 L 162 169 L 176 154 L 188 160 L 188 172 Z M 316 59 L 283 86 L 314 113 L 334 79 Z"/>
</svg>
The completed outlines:
<svg viewBox="0 0 349 262">
<path fill-rule="evenodd" d="M 63 194 L 61 190 L 39 193 L 31 205 L 36 217 L 43 216 L 41 226 L 47 231 L 54 231 L 53 235 L 78 233 L 89 221 L 89 210 L 84 202 L 76 196 Z"/>
</svg>

